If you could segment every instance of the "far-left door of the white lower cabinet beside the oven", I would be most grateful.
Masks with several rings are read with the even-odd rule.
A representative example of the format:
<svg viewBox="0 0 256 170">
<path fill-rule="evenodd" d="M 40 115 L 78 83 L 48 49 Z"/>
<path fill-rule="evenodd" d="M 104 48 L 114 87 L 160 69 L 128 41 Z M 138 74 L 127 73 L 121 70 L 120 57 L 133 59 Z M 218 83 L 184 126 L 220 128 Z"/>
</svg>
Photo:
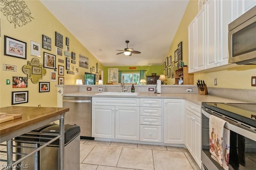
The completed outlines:
<svg viewBox="0 0 256 170">
<path fill-rule="evenodd" d="M 192 154 L 193 152 L 193 114 L 185 110 L 185 146 Z"/>
</svg>

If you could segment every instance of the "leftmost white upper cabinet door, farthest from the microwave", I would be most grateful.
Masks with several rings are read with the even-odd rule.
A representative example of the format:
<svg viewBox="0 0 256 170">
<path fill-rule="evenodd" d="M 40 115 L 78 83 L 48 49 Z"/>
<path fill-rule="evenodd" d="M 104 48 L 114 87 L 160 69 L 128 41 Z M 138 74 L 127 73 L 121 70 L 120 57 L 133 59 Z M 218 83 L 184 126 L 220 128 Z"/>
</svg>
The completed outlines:
<svg viewBox="0 0 256 170">
<path fill-rule="evenodd" d="M 188 26 L 188 73 L 195 71 L 195 52 L 196 52 L 196 32 L 195 32 L 195 20 Z"/>
</svg>

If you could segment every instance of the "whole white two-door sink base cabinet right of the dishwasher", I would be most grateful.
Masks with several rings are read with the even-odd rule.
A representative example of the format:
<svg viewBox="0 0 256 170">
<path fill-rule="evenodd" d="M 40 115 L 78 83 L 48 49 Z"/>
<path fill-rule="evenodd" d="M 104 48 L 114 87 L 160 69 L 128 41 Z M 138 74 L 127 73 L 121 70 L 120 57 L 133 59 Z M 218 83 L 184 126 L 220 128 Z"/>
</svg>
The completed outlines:
<svg viewBox="0 0 256 170">
<path fill-rule="evenodd" d="M 92 97 L 92 137 L 139 140 L 140 99 Z"/>
</svg>

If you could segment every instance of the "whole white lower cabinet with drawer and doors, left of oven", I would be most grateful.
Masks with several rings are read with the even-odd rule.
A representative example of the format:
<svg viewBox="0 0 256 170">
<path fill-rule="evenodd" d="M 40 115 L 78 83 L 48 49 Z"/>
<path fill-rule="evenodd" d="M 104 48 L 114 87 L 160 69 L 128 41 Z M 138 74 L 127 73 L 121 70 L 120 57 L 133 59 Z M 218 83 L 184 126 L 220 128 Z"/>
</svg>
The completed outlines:
<svg viewBox="0 0 256 170">
<path fill-rule="evenodd" d="M 185 146 L 201 167 L 201 107 L 186 101 L 185 108 Z"/>
</svg>

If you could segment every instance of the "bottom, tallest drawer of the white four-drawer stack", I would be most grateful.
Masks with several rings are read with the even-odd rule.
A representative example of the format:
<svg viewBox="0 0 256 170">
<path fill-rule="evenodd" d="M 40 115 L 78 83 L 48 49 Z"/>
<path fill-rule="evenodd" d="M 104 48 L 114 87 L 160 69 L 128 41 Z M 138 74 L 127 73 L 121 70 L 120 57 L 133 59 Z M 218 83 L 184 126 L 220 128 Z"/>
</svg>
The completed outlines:
<svg viewBox="0 0 256 170">
<path fill-rule="evenodd" d="M 161 142 L 161 126 L 140 125 L 140 141 Z"/>
</svg>

